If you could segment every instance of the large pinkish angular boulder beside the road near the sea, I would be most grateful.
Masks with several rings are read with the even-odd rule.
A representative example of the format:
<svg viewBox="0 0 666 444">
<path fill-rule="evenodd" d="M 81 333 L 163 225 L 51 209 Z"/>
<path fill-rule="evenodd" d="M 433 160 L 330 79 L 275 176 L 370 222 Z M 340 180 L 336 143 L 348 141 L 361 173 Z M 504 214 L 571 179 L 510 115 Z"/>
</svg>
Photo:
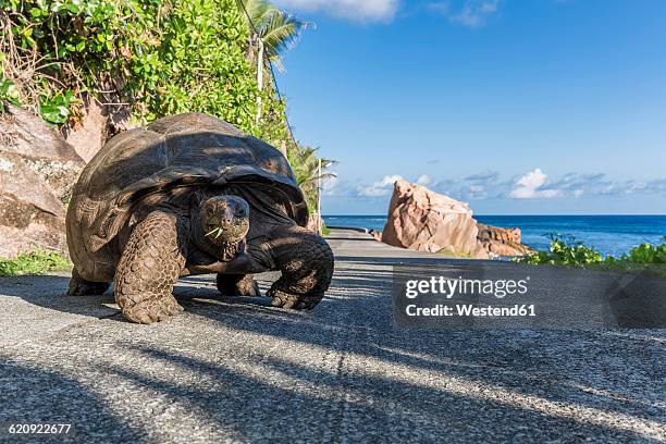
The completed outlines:
<svg viewBox="0 0 666 444">
<path fill-rule="evenodd" d="M 395 183 L 382 242 L 485 259 L 489 255 L 477 236 L 477 221 L 467 203 L 403 180 Z"/>
</svg>

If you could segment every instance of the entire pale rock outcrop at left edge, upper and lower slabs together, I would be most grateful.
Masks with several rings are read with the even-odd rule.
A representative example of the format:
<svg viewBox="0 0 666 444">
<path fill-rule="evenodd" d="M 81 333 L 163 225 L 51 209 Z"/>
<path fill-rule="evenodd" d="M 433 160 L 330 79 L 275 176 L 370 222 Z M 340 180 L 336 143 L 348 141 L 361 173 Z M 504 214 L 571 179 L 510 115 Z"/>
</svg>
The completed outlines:
<svg viewBox="0 0 666 444">
<path fill-rule="evenodd" d="M 0 257 L 65 251 L 65 201 L 85 162 L 41 119 L 17 107 L 0 114 Z"/>
</svg>

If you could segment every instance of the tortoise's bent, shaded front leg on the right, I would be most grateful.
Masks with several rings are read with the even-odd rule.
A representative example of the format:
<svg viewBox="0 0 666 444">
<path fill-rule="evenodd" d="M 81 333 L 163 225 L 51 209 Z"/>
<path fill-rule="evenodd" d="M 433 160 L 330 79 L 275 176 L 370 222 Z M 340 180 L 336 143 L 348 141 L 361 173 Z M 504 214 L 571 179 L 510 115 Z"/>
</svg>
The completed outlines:
<svg viewBox="0 0 666 444">
<path fill-rule="evenodd" d="M 267 293 L 275 307 L 311 309 L 323 298 L 333 276 L 333 251 L 318 234 L 301 226 L 280 226 L 270 247 L 282 276 Z"/>
</svg>

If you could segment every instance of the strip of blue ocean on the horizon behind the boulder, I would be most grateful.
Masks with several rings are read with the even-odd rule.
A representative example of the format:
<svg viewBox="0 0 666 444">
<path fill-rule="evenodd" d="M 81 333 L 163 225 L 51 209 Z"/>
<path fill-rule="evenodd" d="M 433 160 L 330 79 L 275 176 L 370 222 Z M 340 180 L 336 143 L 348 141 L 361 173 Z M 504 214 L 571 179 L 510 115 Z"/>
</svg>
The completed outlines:
<svg viewBox="0 0 666 444">
<path fill-rule="evenodd" d="M 479 215 L 479 222 L 502 227 L 519 227 L 522 243 L 547 249 L 550 234 L 572 236 L 602 255 L 618 256 L 632 247 L 661 244 L 666 236 L 666 215 Z M 329 226 L 357 226 L 383 230 L 385 215 L 324 215 Z"/>
</svg>

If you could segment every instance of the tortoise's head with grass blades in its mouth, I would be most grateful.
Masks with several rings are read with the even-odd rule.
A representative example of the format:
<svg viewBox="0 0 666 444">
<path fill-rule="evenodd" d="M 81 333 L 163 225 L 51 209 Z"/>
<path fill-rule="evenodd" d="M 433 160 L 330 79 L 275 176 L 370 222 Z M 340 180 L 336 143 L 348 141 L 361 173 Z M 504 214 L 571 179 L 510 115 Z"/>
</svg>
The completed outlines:
<svg viewBox="0 0 666 444">
<path fill-rule="evenodd" d="M 238 196 L 211 197 L 199 207 L 199 223 L 207 242 L 222 249 L 237 245 L 249 230 L 249 206 Z"/>
</svg>

